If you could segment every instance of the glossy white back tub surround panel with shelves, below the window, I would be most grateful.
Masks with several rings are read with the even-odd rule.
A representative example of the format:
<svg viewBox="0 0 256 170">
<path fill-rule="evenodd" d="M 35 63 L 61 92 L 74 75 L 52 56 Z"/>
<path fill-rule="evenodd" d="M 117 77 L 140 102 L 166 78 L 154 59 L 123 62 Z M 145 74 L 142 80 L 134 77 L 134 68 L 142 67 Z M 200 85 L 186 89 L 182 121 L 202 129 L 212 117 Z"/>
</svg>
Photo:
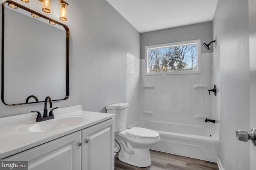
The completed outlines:
<svg viewBox="0 0 256 170">
<path fill-rule="evenodd" d="M 218 95 L 208 92 L 213 87 L 212 53 L 201 54 L 201 65 L 201 74 L 149 76 L 142 69 L 140 120 L 214 127 L 204 122 L 206 117 L 216 119 L 210 104 Z M 142 59 L 141 68 L 145 67 Z"/>
</svg>

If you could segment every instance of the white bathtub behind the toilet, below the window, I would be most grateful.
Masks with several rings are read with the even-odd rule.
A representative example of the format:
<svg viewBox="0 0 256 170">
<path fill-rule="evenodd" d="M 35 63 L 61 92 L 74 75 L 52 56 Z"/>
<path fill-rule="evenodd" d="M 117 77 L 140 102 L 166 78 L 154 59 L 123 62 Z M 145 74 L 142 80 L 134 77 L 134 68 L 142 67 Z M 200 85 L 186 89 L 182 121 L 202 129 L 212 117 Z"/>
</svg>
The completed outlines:
<svg viewBox="0 0 256 170">
<path fill-rule="evenodd" d="M 131 127 L 144 127 L 157 131 L 160 142 L 152 150 L 217 162 L 218 139 L 210 127 L 183 125 L 160 121 L 137 121 Z"/>
</svg>

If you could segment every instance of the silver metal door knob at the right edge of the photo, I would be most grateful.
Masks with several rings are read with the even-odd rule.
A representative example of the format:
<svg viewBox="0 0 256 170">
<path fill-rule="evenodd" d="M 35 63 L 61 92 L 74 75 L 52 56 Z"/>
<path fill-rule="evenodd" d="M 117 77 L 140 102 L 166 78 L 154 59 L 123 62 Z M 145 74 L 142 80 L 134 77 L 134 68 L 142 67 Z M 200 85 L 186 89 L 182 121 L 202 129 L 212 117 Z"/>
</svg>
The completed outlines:
<svg viewBox="0 0 256 170">
<path fill-rule="evenodd" d="M 237 130 L 236 138 L 243 142 L 247 142 L 250 139 L 252 144 L 256 146 L 256 129 L 252 129 L 251 133 L 248 133 L 246 130 Z"/>
</svg>

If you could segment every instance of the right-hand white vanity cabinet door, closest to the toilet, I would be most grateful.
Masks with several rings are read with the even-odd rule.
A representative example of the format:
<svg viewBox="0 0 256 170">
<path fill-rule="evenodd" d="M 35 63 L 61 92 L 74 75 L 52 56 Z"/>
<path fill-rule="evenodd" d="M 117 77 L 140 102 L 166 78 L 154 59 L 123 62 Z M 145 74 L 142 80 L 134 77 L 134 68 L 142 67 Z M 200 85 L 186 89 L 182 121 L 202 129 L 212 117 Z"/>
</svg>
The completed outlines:
<svg viewBox="0 0 256 170">
<path fill-rule="evenodd" d="M 82 130 L 82 170 L 114 170 L 114 119 Z"/>
</svg>

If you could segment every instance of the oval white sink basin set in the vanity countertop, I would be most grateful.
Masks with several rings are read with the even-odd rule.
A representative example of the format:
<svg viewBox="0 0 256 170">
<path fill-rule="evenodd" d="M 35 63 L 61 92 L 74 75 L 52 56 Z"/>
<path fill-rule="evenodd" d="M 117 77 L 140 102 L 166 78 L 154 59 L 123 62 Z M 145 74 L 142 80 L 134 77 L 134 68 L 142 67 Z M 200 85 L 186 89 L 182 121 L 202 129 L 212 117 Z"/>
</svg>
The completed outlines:
<svg viewBox="0 0 256 170">
<path fill-rule="evenodd" d="M 30 132 L 56 131 L 80 125 L 81 123 L 84 123 L 87 120 L 88 117 L 86 116 L 60 116 L 51 120 L 32 123 L 32 125 L 23 125 L 19 128 L 19 130 L 25 130 Z"/>
</svg>

